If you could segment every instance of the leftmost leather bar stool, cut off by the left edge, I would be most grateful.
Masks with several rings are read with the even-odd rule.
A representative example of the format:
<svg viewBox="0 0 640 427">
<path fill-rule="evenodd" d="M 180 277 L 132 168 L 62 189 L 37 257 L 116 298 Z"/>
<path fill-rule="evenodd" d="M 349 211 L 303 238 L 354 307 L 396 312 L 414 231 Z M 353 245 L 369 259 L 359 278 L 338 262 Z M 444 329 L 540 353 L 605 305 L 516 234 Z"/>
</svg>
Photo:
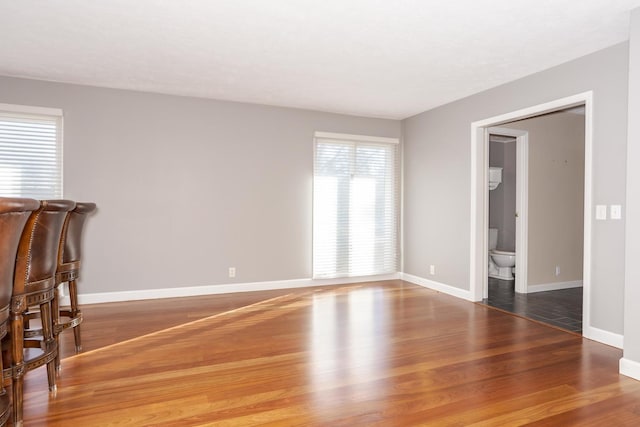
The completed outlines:
<svg viewBox="0 0 640 427">
<path fill-rule="evenodd" d="M 29 215 L 39 206 L 40 202 L 34 199 L 0 197 L 0 338 L 9 338 L 7 329 L 20 236 Z M 5 425 L 11 416 L 11 401 L 4 388 L 3 367 L 0 358 L 0 372 L 3 373 L 0 383 L 0 425 Z M 6 373 L 7 379 L 12 378 L 11 368 L 8 368 Z"/>
</svg>

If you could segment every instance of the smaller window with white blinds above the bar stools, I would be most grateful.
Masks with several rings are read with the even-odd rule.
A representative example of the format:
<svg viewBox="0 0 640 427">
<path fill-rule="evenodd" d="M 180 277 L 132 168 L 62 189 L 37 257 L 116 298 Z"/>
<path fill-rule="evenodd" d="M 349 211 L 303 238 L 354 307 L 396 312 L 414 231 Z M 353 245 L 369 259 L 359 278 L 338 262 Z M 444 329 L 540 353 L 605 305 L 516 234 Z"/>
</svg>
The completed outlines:
<svg viewBox="0 0 640 427">
<path fill-rule="evenodd" d="M 62 198 L 62 111 L 0 104 L 0 196 Z"/>
</svg>

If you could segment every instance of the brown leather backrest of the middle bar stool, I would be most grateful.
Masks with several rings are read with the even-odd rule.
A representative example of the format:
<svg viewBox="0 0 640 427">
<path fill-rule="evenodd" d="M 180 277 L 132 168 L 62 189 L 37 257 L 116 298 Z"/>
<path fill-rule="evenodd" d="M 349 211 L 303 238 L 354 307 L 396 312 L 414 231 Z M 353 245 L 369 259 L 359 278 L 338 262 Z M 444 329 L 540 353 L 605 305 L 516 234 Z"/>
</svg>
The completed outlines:
<svg viewBox="0 0 640 427">
<path fill-rule="evenodd" d="M 31 214 L 18 247 L 14 295 L 55 286 L 62 226 L 74 207 L 71 200 L 43 200 Z"/>
</svg>

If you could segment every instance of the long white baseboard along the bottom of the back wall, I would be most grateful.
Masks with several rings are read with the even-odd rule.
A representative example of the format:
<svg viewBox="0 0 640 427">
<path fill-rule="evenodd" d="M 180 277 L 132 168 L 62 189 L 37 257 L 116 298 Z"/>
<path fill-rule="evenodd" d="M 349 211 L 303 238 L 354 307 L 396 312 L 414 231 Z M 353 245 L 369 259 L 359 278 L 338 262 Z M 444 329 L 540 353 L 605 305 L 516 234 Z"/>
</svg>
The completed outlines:
<svg viewBox="0 0 640 427">
<path fill-rule="evenodd" d="M 400 279 L 400 273 L 378 275 L 341 277 L 336 279 L 294 279 L 252 283 L 229 283 L 222 285 L 186 286 L 166 289 L 141 289 L 135 291 L 101 292 L 93 294 L 79 294 L 79 304 L 100 304 L 105 302 L 137 301 L 158 298 L 178 298 L 200 295 L 228 294 L 234 292 L 268 291 L 274 289 L 293 289 L 313 286 L 344 285 L 360 282 L 377 282 L 381 280 Z M 61 299 L 62 305 L 69 305 L 69 297 Z"/>
</svg>

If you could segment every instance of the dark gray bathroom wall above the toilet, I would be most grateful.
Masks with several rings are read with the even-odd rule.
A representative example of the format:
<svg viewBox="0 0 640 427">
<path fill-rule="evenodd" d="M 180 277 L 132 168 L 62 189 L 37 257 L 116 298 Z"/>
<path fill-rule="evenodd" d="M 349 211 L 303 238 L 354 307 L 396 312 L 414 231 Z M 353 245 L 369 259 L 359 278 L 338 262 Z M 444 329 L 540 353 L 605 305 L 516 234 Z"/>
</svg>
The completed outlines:
<svg viewBox="0 0 640 427">
<path fill-rule="evenodd" d="M 489 191 L 489 228 L 498 229 L 498 249 L 516 250 L 516 143 L 491 142 L 489 166 L 502 168 L 502 183 Z"/>
</svg>

